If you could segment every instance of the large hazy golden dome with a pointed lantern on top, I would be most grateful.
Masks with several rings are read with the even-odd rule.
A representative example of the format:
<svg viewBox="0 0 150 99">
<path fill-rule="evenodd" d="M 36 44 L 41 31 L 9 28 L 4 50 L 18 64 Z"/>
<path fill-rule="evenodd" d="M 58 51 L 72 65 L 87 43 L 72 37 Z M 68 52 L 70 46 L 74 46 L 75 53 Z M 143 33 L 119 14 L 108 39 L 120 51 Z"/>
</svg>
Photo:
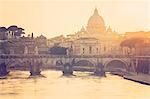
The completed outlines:
<svg viewBox="0 0 150 99">
<path fill-rule="evenodd" d="M 89 33 L 105 32 L 105 23 L 103 18 L 98 14 L 97 8 L 95 8 L 94 14 L 88 20 L 87 31 Z"/>
</svg>

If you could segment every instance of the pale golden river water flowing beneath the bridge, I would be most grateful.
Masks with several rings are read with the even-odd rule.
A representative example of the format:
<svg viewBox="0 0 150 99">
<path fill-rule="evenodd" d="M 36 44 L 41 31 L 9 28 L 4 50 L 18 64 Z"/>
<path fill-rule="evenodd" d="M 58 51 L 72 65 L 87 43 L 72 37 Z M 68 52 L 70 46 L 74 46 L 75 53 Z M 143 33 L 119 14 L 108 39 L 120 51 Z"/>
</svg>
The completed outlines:
<svg viewBox="0 0 150 99">
<path fill-rule="evenodd" d="M 106 78 L 75 72 L 64 77 L 60 71 L 44 71 L 45 78 L 28 78 L 13 71 L 0 80 L 0 99 L 150 99 L 150 86 L 107 74 Z"/>
</svg>

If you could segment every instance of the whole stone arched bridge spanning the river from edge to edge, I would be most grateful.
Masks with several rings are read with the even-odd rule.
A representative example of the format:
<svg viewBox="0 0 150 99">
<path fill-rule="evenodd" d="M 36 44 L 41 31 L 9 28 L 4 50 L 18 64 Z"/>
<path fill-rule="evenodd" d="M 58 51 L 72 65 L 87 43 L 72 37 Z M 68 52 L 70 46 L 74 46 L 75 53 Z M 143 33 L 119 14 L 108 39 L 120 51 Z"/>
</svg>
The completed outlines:
<svg viewBox="0 0 150 99">
<path fill-rule="evenodd" d="M 150 56 L 100 55 L 100 56 L 58 56 L 58 55 L 0 55 L 0 64 L 5 63 L 7 68 L 27 67 L 30 73 L 40 73 L 40 68 L 63 67 L 70 64 L 82 69 L 103 68 L 104 71 L 136 71 L 139 66 L 150 67 Z M 0 70 L 1 71 L 1 70 Z"/>
</svg>

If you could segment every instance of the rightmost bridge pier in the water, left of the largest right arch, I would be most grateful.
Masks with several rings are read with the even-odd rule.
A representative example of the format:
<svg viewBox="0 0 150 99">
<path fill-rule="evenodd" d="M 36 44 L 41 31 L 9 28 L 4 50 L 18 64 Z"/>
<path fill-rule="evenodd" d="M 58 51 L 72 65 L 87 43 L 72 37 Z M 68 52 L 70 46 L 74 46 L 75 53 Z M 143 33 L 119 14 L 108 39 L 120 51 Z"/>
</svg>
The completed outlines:
<svg viewBox="0 0 150 99">
<path fill-rule="evenodd" d="M 102 77 L 105 77 L 105 71 L 104 71 L 104 66 L 102 64 L 98 64 L 97 66 L 95 66 L 96 69 L 94 71 L 94 75 L 97 75 L 97 76 L 102 76 Z"/>
</svg>

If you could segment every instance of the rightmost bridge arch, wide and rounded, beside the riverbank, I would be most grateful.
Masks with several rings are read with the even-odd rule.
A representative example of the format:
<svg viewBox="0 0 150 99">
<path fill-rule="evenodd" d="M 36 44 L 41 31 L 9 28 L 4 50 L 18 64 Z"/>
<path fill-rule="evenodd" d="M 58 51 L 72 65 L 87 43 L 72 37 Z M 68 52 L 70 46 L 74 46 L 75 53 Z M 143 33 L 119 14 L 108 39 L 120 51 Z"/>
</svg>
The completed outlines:
<svg viewBox="0 0 150 99">
<path fill-rule="evenodd" d="M 106 71 L 126 71 L 128 68 L 127 62 L 121 59 L 113 59 L 105 63 L 104 68 Z"/>
</svg>

